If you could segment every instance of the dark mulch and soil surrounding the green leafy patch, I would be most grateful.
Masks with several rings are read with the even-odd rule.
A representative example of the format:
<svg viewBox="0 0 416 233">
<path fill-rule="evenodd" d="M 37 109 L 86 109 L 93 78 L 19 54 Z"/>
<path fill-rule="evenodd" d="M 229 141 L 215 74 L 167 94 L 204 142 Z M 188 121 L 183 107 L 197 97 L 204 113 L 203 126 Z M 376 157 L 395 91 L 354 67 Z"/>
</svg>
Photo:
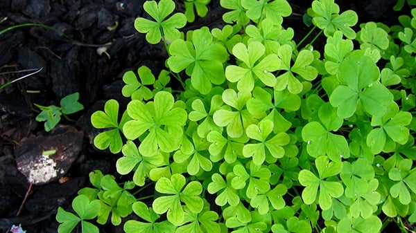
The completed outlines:
<svg viewBox="0 0 416 233">
<path fill-rule="evenodd" d="M 223 10 L 218 2 L 212 0 L 209 16 L 198 19 L 186 30 L 220 26 Z M 299 41 L 308 31 L 302 15 L 311 1 L 289 2 L 295 14 L 285 24 L 295 30 Z M 356 10 L 363 22 L 392 25 L 399 15 L 392 12 L 394 0 L 336 2 L 341 10 Z M 57 207 L 71 208 L 78 189 L 88 185 L 90 171 L 101 169 L 104 174 L 119 177 L 114 172 L 117 156 L 92 145 L 97 131 L 89 118 L 94 111 L 102 110 L 110 98 L 125 104 L 121 96 L 125 71 L 143 64 L 154 70 L 164 66 L 166 53 L 162 46 L 146 44 L 144 35 L 133 27 L 135 18 L 143 15 L 143 3 L 144 0 L 0 1 L 0 30 L 37 23 L 64 33 L 30 26 L 0 36 L 0 73 L 43 68 L 37 75 L 0 90 L 0 233 L 19 223 L 30 233 L 57 232 Z M 177 10 L 182 9 L 179 3 Z M 115 30 L 107 29 L 116 22 Z M 102 47 L 107 48 L 108 55 L 98 55 L 96 50 Z M 322 48 L 320 41 L 315 48 Z M 0 85 L 24 74 L 0 75 Z M 62 120 L 60 126 L 46 133 L 43 123 L 35 120 L 39 111 L 33 104 L 59 105 L 62 97 L 74 92 L 80 93 L 85 109 L 71 115 L 75 122 Z M 59 161 L 60 172 L 48 181 L 30 185 L 25 171 L 31 169 L 31 162 L 42 162 L 42 152 L 51 149 L 57 151 L 53 160 Z M 101 232 L 122 232 L 122 227 L 107 225 L 101 227 Z"/>
</svg>

